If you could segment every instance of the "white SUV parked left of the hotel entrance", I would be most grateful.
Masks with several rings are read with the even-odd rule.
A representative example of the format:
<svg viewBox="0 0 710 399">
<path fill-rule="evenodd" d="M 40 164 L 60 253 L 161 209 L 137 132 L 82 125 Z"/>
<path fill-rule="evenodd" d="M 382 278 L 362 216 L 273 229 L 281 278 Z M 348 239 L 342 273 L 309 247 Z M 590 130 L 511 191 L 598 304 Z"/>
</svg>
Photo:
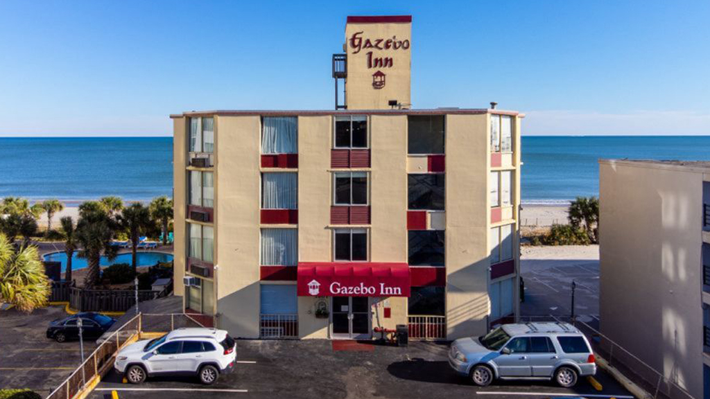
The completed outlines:
<svg viewBox="0 0 710 399">
<path fill-rule="evenodd" d="M 187 374 L 209 385 L 235 363 L 236 342 L 223 329 L 181 328 L 126 346 L 116 355 L 114 368 L 133 384 L 148 376 Z"/>
</svg>

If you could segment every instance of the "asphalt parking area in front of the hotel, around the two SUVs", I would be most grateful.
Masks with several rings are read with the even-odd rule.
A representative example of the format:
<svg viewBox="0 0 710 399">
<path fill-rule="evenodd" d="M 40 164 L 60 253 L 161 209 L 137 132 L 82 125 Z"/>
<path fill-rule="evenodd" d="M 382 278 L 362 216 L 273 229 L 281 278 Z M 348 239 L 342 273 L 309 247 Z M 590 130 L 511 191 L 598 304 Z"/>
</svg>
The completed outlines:
<svg viewBox="0 0 710 399">
<path fill-rule="evenodd" d="M 406 348 L 356 344 L 354 350 L 334 351 L 334 341 L 240 340 L 234 373 L 212 386 L 195 378 L 149 378 L 134 386 L 111 372 L 90 398 L 633 398 L 606 373 L 596 390 L 581 379 L 573 389 L 547 381 L 497 381 L 478 388 L 450 370 L 448 344 L 412 342 Z"/>
</svg>

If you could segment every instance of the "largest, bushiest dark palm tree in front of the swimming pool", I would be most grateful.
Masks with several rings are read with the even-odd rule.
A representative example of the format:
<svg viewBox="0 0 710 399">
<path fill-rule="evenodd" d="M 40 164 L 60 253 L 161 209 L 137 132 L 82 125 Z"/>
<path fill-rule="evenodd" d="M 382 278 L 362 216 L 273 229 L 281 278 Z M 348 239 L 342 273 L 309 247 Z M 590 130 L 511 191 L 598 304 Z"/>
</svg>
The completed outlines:
<svg viewBox="0 0 710 399">
<path fill-rule="evenodd" d="M 85 204 L 85 205 L 84 205 Z M 84 288 L 91 289 L 99 283 L 101 272 L 99 262 L 104 253 L 109 260 L 116 257 L 116 247 L 111 246 L 116 224 L 103 207 L 84 202 L 80 205 L 79 222 L 77 223 L 77 243 L 82 249 L 78 255 L 88 263 L 87 274 L 84 277 Z"/>
</svg>

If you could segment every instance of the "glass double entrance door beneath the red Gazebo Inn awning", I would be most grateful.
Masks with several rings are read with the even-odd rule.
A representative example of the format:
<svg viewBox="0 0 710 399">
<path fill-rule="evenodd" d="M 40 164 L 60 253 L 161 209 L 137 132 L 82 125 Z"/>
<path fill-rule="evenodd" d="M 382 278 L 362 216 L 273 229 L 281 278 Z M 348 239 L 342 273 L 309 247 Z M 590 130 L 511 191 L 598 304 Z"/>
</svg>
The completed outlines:
<svg viewBox="0 0 710 399">
<path fill-rule="evenodd" d="M 333 297 L 332 337 L 334 339 L 369 339 L 370 299 L 368 297 Z"/>
</svg>

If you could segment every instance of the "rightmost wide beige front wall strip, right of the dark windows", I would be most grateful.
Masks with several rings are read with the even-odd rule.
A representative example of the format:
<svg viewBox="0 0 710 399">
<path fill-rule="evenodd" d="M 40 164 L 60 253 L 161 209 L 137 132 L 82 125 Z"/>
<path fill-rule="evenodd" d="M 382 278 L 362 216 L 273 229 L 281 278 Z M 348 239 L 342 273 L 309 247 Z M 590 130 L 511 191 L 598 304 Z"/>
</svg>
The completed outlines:
<svg viewBox="0 0 710 399">
<path fill-rule="evenodd" d="M 446 126 L 447 338 L 457 339 L 487 329 L 488 118 L 448 115 Z"/>
</svg>

